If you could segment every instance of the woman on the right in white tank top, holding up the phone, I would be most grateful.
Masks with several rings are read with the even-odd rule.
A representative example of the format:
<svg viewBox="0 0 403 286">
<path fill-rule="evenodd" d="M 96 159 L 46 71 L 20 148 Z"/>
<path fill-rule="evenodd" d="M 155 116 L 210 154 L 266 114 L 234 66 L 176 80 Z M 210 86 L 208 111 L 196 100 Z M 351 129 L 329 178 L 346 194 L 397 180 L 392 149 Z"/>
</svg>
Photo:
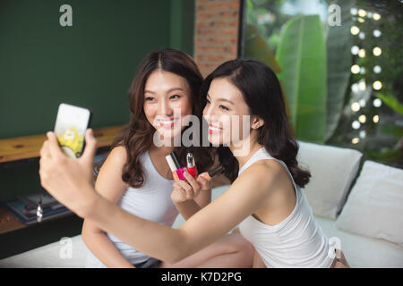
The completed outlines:
<svg viewBox="0 0 403 286">
<path fill-rule="evenodd" d="M 178 229 L 129 214 L 99 196 L 90 183 L 97 145 L 91 130 L 86 133 L 87 149 L 76 161 L 63 156 L 54 134 L 48 132 L 41 149 L 42 186 L 76 214 L 168 263 L 192 256 L 239 225 L 256 250 L 254 266 L 347 267 L 343 253 L 330 247 L 314 221 L 305 198 L 302 188 L 310 173 L 297 164 L 298 145 L 290 135 L 275 73 L 255 60 L 229 61 L 204 80 L 201 94 L 209 141 L 227 146 L 223 147 L 227 157 L 222 156 L 220 163 L 235 181 Z M 234 139 L 232 132 L 244 134 L 243 128 L 247 136 Z M 244 146 L 247 152 L 236 155 Z M 192 176 L 185 178 L 187 182 L 173 184 L 174 191 L 200 188 Z"/>
</svg>

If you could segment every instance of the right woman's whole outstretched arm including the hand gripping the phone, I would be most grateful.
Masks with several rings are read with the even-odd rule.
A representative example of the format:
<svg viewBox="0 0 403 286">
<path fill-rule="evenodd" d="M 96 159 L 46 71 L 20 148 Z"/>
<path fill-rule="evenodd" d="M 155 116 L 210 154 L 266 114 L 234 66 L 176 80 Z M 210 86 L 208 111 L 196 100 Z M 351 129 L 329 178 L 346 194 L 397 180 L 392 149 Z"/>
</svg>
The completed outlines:
<svg viewBox="0 0 403 286">
<path fill-rule="evenodd" d="M 279 172 L 279 169 L 270 170 L 260 162 L 253 164 L 224 194 L 193 214 L 178 229 L 172 229 L 129 214 L 94 191 L 90 178 L 97 144 L 91 135 L 91 130 L 86 133 L 84 154 L 73 160 L 64 156 L 55 134 L 48 132 L 49 140 L 40 152 L 42 186 L 74 213 L 90 219 L 100 229 L 168 263 L 176 263 L 207 247 L 253 214 L 270 194 Z"/>
</svg>

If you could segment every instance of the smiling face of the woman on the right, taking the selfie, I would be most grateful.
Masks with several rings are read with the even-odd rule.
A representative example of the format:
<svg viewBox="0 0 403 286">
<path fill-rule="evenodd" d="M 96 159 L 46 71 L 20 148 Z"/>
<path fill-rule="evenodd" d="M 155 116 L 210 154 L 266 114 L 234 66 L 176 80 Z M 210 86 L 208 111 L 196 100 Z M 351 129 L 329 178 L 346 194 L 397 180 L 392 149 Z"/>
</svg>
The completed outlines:
<svg viewBox="0 0 403 286">
<path fill-rule="evenodd" d="M 249 136 L 251 116 L 241 91 L 227 78 L 211 81 L 203 116 L 212 144 L 235 145 Z"/>
</svg>

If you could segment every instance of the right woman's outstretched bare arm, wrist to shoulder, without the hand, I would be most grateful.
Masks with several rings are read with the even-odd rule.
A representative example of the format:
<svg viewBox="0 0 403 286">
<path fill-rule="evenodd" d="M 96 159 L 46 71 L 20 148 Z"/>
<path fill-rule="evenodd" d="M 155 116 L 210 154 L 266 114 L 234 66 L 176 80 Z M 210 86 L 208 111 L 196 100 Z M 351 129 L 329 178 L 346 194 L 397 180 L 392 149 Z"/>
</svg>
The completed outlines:
<svg viewBox="0 0 403 286">
<path fill-rule="evenodd" d="M 168 263 L 176 263 L 219 240 L 260 207 L 267 196 L 267 189 L 263 188 L 270 188 L 268 178 L 271 175 L 262 174 L 258 168 L 256 164 L 244 171 L 226 192 L 177 229 L 128 214 L 99 196 L 93 197 L 87 211 L 82 214 L 133 248 Z M 105 211 L 100 212 L 100 209 Z M 115 221 L 121 224 L 116 225 Z M 138 229 L 141 233 L 134 231 Z"/>
</svg>

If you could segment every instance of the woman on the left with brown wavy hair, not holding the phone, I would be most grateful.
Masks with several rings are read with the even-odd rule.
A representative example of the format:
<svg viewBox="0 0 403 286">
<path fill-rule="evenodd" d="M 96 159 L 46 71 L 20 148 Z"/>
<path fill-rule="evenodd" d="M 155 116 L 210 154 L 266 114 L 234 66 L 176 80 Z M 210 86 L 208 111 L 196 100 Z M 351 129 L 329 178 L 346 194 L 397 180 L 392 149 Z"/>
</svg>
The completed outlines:
<svg viewBox="0 0 403 286">
<path fill-rule="evenodd" d="M 171 227 L 178 213 L 185 219 L 208 205 L 211 187 L 198 179 L 199 189 L 173 189 L 174 178 L 165 156 L 175 151 L 184 161 L 192 152 L 200 172 L 213 164 L 210 147 L 175 147 L 173 141 L 188 128 L 186 115 L 201 119 L 202 77 L 191 56 L 174 49 L 150 53 L 141 62 L 129 88 L 130 122 L 117 134 L 99 171 L 95 189 L 111 203 L 143 219 Z M 177 111 L 177 112 L 175 112 Z M 156 146 L 154 134 L 167 146 Z M 80 161 L 81 159 L 78 159 Z M 107 209 L 103 209 L 107 213 Z M 114 214 L 111 214 L 114 216 Z M 116 225 L 124 222 L 115 221 Z M 122 227 L 125 228 L 124 224 Z M 253 247 L 239 234 L 222 237 L 176 264 L 150 257 L 91 219 L 82 226 L 90 249 L 87 267 L 248 267 Z M 141 233 L 136 229 L 136 235 Z M 154 233 L 159 237 L 159 233 Z"/>
</svg>

